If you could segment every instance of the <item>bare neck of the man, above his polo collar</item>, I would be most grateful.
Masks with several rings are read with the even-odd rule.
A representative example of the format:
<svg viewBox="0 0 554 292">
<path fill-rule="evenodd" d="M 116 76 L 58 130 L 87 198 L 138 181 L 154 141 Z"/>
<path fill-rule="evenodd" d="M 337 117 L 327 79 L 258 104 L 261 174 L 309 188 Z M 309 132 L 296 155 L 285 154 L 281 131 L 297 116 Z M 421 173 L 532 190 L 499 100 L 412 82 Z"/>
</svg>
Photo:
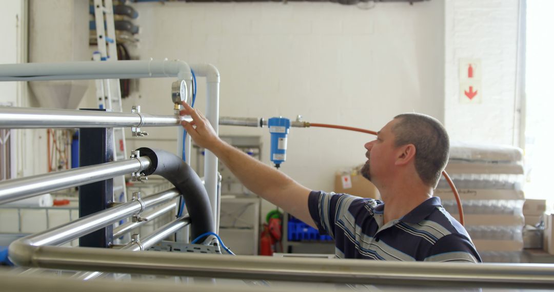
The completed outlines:
<svg viewBox="0 0 554 292">
<path fill-rule="evenodd" d="M 379 191 L 385 207 L 383 224 L 403 217 L 433 196 L 433 189 L 421 184 L 399 183 Z"/>
</svg>

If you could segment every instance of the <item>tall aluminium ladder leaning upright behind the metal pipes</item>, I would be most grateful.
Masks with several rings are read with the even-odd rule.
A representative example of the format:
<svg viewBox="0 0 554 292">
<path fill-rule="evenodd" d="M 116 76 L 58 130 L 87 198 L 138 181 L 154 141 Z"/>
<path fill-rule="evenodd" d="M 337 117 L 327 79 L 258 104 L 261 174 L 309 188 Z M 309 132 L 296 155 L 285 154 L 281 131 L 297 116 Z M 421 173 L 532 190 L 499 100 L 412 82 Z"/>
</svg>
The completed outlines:
<svg viewBox="0 0 554 292">
<path fill-rule="evenodd" d="M 98 51 L 93 54 L 93 60 L 117 61 L 114 6 L 112 0 L 94 0 L 94 18 Z M 119 79 L 96 80 L 96 97 L 99 108 L 104 108 L 106 111 L 122 112 Z M 129 156 L 126 151 L 124 131 L 124 128 L 114 128 L 114 134 L 111 136 L 114 160 L 124 160 Z M 116 177 L 114 178 L 114 202 L 126 201 L 125 176 Z"/>
</svg>

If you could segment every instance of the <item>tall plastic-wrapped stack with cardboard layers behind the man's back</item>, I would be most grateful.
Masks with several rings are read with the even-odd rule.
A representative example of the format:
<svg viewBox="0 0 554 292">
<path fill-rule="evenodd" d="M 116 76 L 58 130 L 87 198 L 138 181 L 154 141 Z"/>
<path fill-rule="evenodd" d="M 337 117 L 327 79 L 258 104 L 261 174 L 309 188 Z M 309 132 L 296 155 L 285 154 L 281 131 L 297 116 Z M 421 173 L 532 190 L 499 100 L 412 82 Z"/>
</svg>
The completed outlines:
<svg viewBox="0 0 554 292">
<path fill-rule="evenodd" d="M 520 262 L 525 201 L 521 191 L 522 150 L 453 143 L 446 170 L 458 187 L 466 230 L 484 262 Z M 444 179 L 435 195 L 447 211 L 459 216 Z"/>
</svg>

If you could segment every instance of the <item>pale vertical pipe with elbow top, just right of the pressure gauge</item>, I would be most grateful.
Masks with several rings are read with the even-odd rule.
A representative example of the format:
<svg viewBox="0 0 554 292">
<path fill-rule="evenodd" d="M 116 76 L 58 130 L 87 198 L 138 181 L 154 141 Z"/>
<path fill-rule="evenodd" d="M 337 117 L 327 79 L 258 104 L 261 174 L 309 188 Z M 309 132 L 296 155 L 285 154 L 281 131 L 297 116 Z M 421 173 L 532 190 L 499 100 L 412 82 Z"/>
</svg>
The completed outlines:
<svg viewBox="0 0 554 292">
<path fill-rule="evenodd" d="M 206 118 L 212 124 L 216 134 L 219 133 L 219 71 L 212 64 L 194 64 L 191 65 L 196 76 L 203 76 L 207 79 L 206 91 Z M 218 192 L 217 192 L 217 163 L 218 159 L 212 152 L 206 150 L 204 157 L 204 180 L 206 181 L 206 190 L 210 204 L 212 205 L 212 214 L 214 222 L 214 230 L 219 233 L 219 216 L 218 215 Z"/>
</svg>

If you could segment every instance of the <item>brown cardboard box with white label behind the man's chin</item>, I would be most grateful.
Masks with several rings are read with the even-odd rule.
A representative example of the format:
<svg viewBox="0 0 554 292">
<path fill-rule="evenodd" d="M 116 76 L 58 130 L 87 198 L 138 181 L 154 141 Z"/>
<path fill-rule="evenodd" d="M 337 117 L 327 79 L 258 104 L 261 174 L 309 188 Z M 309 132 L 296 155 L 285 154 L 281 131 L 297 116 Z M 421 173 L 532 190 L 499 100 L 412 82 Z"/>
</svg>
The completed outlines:
<svg viewBox="0 0 554 292">
<path fill-rule="evenodd" d="M 345 193 L 358 197 L 381 199 L 377 187 L 361 174 L 337 174 L 335 175 L 335 192 Z"/>
</svg>

